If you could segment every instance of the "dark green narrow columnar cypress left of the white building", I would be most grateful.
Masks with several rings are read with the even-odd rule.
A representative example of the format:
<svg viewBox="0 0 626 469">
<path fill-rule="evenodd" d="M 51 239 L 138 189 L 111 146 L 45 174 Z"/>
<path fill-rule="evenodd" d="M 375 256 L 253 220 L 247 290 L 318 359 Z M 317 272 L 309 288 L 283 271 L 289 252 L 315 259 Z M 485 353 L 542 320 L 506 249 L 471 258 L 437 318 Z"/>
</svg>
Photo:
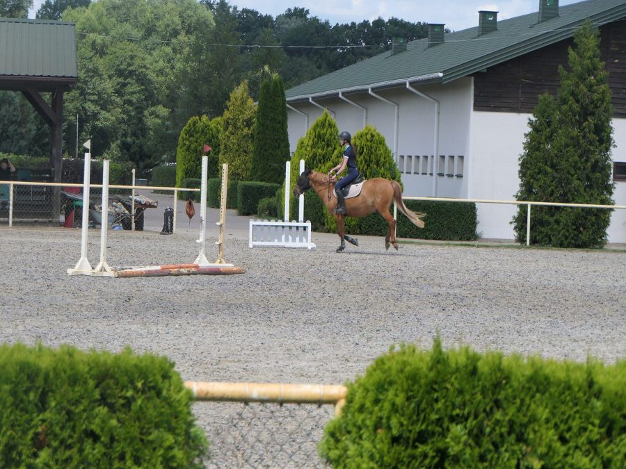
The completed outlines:
<svg viewBox="0 0 626 469">
<path fill-rule="evenodd" d="M 252 179 L 282 183 L 286 161 L 289 161 L 287 101 L 280 76 L 269 76 L 262 83 L 259 92 L 252 152 Z"/>
</svg>

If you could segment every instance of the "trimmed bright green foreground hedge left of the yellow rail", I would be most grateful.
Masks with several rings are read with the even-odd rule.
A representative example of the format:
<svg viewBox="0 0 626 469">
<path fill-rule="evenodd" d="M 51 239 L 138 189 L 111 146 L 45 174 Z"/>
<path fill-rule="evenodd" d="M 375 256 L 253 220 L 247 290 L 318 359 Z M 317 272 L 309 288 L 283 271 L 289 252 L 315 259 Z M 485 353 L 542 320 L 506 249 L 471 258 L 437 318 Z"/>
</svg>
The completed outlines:
<svg viewBox="0 0 626 469">
<path fill-rule="evenodd" d="M 164 357 L 0 346 L 0 467 L 202 467 L 193 397 Z"/>
</svg>

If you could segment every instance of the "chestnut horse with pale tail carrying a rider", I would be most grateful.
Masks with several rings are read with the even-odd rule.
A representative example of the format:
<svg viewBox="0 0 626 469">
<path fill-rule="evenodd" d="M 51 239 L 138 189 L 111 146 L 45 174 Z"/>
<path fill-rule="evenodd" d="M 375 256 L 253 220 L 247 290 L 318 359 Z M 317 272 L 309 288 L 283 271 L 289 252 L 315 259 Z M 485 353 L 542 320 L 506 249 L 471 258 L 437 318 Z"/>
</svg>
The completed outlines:
<svg viewBox="0 0 626 469">
<path fill-rule="evenodd" d="M 320 199 L 322 199 L 326 208 L 330 213 L 334 213 L 337 206 L 337 197 L 331 197 L 331 193 L 335 191 L 335 183 L 330 182 L 328 174 L 308 170 L 300 174 L 294 195 L 297 197 L 303 192 L 313 188 Z M 392 201 L 396 201 L 396 205 L 402 213 L 408 217 L 418 228 L 424 228 L 424 221 L 421 220 L 425 213 L 415 213 L 410 211 L 402 201 L 402 191 L 399 183 L 383 179 L 380 177 L 368 179 L 363 183 L 361 193 L 357 197 L 346 199 L 346 215 L 335 214 L 337 220 L 337 234 L 341 240 L 341 245 L 337 248 L 337 252 L 346 249 L 346 241 L 358 246 L 358 241 L 351 236 L 346 235 L 344 229 L 344 217 L 364 217 L 370 213 L 378 212 L 383 215 L 385 222 L 389 225 L 387 236 L 385 236 L 385 249 L 389 249 L 392 244 L 396 250 L 398 243 L 396 242 L 396 220 L 389 211 Z"/>
</svg>

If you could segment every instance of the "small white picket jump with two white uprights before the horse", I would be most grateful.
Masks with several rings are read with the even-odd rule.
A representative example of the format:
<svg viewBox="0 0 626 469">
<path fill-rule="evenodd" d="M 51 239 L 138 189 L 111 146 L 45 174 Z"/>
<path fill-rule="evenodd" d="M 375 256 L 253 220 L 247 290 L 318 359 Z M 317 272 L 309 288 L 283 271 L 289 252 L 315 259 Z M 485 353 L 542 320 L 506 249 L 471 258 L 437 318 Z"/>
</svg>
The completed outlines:
<svg viewBox="0 0 626 469">
<path fill-rule="evenodd" d="M 284 170 L 284 221 L 281 220 L 250 220 L 249 247 L 279 246 L 306 247 L 313 249 L 311 242 L 311 222 L 304 221 L 304 195 L 298 197 L 298 221 L 289 221 L 289 195 L 291 181 L 291 162 L 285 163 Z M 300 160 L 300 172 L 305 168 L 304 160 Z"/>
</svg>

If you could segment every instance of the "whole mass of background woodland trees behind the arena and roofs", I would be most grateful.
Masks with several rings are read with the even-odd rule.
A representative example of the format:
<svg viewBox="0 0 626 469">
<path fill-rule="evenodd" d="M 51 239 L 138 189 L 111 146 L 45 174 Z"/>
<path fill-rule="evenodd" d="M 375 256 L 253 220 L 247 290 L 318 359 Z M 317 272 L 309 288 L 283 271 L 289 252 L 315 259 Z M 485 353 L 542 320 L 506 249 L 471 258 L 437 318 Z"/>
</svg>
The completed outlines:
<svg viewBox="0 0 626 469">
<path fill-rule="evenodd" d="M 26 17 L 31 3 L 0 0 L 0 16 Z M 143 175 L 175 161 L 189 118 L 222 115 L 238 83 L 257 99 L 265 69 L 290 88 L 388 49 L 394 35 L 426 37 L 425 24 L 395 18 L 331 25 L 305 8 L 272 17 L 226 0 L 46 0 L 37 16 L 76 24 L 79 80 L 65 94 L 64 153 L 91 138 L 94 156 Z M 0 108 L 0 122 L 12 113 Z M 38 124 L 44 147 L 47 134 Z M 24 147 L 40 154 L 35 140 L 8 150 Z"/>
</svg>

